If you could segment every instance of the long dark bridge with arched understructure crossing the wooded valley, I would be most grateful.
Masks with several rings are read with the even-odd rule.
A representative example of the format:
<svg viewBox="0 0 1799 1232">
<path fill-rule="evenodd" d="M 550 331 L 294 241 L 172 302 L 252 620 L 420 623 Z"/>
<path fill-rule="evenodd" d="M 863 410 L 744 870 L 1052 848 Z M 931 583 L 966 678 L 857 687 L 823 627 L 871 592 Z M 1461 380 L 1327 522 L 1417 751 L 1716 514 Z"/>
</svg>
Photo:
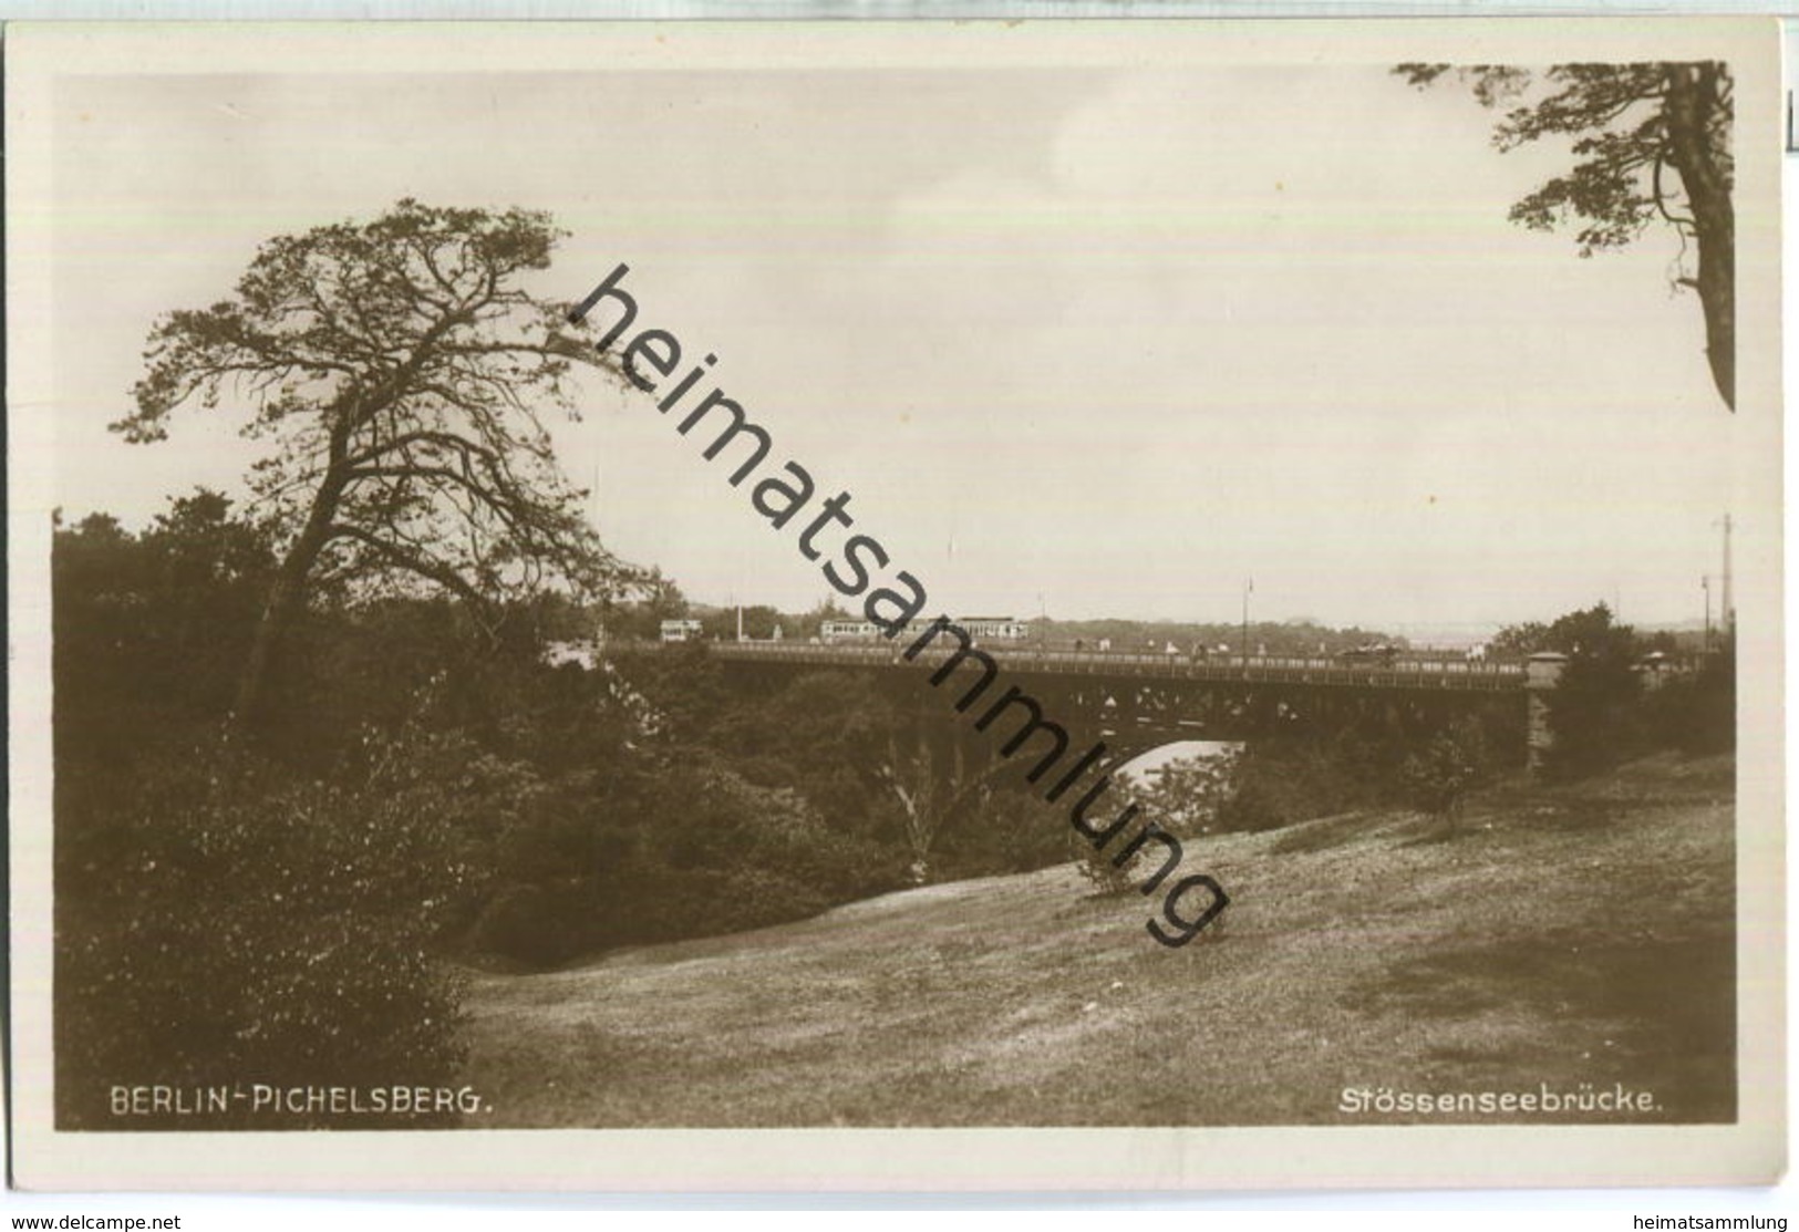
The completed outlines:
<svg viewBox="0 0 1799 1232">
<path fill-rule="evenodd" d="M 923 730 L 966 719 L 955 701 L 979 680 L 971 664 L 941 687 L 932 673 L 953 642 L 932 642 L 917 658 L 896 644 L 705 642 L 727 680 L 781 687 L 808 671 L 873 673 L 883 692 Z M 608 649 L 624 649 L 613 644 Z M 631 644 L 635 653 L 680 653 L 680 644 Z M 1322 656 L 1189 656 L 1132 651 L 1069 651 L 982 642 L 1006 685 L 1025 691 L 1070 736 L 1103 737 L 1123 761 L 1189 739 L 1252 741 L 1281 734 L 1329 734 L 1346 727 L 1428 736 L 1463 716 L 1479 716 L 1499 737 L 1497 752 L 1536 745 L 1540 682 L 1526 664 L 1396 656 L 1346 662 Z M 995 685 L 993 694 L 1004 692 Z M 975 705 L 968 714 L 980 714 Z M 968 727 L 966 721 L 959 723 Z M 1076 736 L 1079 737 L 1079 736 Z M 923 736 L 921 736 L 923 739 Z M 986 743 L 984 739 L 980 743 Z M 968 750 L 973 754 L 975 750 Z M 979 759 L 979 755 L 977 755 Z"/>
</svg>

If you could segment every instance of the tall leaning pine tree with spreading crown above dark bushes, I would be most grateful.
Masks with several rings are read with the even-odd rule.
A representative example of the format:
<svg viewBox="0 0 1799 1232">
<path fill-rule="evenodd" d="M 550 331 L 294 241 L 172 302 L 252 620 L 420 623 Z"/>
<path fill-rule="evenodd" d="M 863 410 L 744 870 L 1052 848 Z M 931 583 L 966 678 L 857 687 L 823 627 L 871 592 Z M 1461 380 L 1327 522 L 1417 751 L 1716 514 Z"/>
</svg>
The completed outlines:
<svg viewBox="0 0 1799 1232">
<path fill-rule="evenodd" d="M 477 613 L 563 585 L 630 577 L 556 468 L 545 410 L 574 417 L 563 306 L 518 286 L 563 232 L 536 210 L 434 209 L 264 243 L 236 293 L 149 335 L 137 408 L 112 424 L 162 441 L 173 412 L 221 401 L 268 442 L 252 487 L 281 567 L 237 683 L 254 719 L 272 658 L 322 586 L 448 590 Z"/>
</svg>

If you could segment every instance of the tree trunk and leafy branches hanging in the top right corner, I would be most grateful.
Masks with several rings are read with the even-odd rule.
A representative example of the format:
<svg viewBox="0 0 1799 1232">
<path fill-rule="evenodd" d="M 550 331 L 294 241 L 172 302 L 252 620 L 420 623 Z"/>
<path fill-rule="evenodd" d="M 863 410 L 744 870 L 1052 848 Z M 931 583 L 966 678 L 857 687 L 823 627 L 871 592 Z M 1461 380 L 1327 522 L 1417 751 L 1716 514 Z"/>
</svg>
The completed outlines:
<svg viewBox="0 0 1799 1232">
<path fill-rule="evenodd" d="M 1580 254 L 1623 248 L 1651 223 L 1682 243 L 1677 286 L 1698 291 L 1705 356 L 1725 405 L 1736 410 L 1736 216 L 1731 205 L 1731 70 L 1718 61 L 1554 65 L 1542 86 L 1506 65 L 1400 65 L 1427 86 L 1446 72 L 1472 85 L 1481 106 L 1513 104 L 1493 129 L 1500 151 L 1544 137 L 1572 138 L 1574 167 L 1511 207 L 1511 219 L 1551 230 L 1576 219 Z M 1535 101 L 1526 103 L 1526 97 Z M 1691 243 L 1691 272 L 1686 250 Z"/>
</svg>

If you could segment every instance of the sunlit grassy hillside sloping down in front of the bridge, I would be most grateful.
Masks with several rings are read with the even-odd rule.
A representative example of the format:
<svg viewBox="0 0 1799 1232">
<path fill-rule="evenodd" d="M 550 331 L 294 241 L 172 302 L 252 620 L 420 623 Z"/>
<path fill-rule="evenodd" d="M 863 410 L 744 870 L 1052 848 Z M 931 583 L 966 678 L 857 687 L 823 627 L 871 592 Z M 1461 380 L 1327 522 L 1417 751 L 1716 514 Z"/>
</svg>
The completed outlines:
<svg viewBox="0 0 1799 1232">
<path fill-rule="evenodd" d="M 549 975 L 475 975 L 488 1126 L 1732 1120 L 1732 763 L 1508 784 L 1445 838 L 1344 815 L 1209 840 L 1184 950 L 1072 867 Z M 1376 1115 L 1344 1088 L 1653 1092 Z"/>
</svg>

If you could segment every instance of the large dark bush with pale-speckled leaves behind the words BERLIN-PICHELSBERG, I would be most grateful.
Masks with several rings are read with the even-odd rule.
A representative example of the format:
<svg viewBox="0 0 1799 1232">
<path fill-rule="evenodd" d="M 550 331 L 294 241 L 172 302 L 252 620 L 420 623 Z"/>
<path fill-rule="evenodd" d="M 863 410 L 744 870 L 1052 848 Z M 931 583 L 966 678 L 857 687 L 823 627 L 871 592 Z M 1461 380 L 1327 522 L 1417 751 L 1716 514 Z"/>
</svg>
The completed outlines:
<svg viewBox="0 0 1799 1232">
<path fill-rule="evenodd" d="M 183 752 L 148 750 L 119 811 L 59 800 L 58 1124 L 117 1128 L 112 1085 L 453 1083 L 457 980 L 430 950 L 457 879 L 441 802 L 295 779 L 223 741 Z M 383 1119 L 133 1117 L 175 1124 Z"/>
</svg>

